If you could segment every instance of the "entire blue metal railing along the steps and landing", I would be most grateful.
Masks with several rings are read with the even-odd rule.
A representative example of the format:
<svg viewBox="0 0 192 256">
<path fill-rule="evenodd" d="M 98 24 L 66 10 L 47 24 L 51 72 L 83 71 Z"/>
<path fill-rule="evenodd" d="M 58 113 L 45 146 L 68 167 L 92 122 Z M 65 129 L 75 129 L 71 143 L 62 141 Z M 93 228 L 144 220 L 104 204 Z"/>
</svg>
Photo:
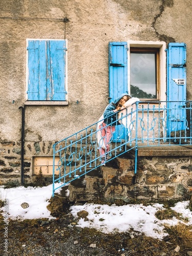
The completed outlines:
<svg viewBox="0 0 192 256">
<path fill-rule="evenodd" d="M 135 174 L 137 152 L 143 146 L 191 145 L 191 101 L 137 101 L 131 111 L 125 109 L 115 113 L 120 125 L 116 125 L 105 148 L 105 162 L 124 154 L 135 152 Z M 53 145 L 53 196 L 55 190 L 101 166 L 100 150 L 105 135 L 101 135 L 103 119 Z M 105 127 L 106 127 L 105 126 Z M 176 144 L 177 143 L 177 144 Z M 60 185 L 55 188 L 55 183 Z"/>
</svg>

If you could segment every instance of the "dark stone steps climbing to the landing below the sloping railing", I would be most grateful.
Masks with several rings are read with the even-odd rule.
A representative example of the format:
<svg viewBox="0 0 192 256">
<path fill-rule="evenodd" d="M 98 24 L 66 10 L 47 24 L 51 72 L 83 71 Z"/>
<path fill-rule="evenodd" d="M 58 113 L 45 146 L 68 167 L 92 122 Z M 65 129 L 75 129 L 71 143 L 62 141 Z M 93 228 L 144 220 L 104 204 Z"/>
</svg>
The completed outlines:
<svg viewBox="0 0 192 256">
<path fill-rule="evenodd" d="M 115 202 L 122 199 L 122 185 L 133 185 L 136 180 L 134 159 L 124 154 L 113 161 L 100 166 L 84 176 L 62 187 L 60 195 L 70 202 Z M 118 184 L 121 184 L 120 186 Z M 55 193 L 57 196 L 58 194 Z M 126 195 L 124 195 L 124 198 Z"/>
</svg>

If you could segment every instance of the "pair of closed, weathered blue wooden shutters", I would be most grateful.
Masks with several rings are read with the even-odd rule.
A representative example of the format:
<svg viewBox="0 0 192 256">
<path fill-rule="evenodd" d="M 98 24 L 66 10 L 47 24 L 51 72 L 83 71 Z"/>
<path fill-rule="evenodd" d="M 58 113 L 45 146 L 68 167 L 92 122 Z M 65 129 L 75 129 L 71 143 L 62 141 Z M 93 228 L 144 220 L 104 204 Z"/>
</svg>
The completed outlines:
<svg viewBox="0 0 192 256">
<path fill-rule="evenodd" d="M 27 100 L 66 101 L 66 40 L 27 40 Z"/>
</svg>

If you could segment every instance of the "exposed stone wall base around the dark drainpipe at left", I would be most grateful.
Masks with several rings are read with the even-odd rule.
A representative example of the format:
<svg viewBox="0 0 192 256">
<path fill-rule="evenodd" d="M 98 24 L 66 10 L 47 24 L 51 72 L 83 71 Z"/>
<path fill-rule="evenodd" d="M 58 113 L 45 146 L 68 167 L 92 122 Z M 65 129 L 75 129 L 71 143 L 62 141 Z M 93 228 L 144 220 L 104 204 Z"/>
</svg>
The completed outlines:
<svg viewBox="0 0 192 256">
<path fill-rule="evenodd" d="M 33 157 L 53 157 L 55 141 L 37 141 L 25 143 L 24 183 L 31 183 L 33 176 Z M 22 147 L 20 141 L 0 141 L 0 185 L 20 185 Z M 52 175 L 51 175 L 52 180 Z"/>
</svg>

